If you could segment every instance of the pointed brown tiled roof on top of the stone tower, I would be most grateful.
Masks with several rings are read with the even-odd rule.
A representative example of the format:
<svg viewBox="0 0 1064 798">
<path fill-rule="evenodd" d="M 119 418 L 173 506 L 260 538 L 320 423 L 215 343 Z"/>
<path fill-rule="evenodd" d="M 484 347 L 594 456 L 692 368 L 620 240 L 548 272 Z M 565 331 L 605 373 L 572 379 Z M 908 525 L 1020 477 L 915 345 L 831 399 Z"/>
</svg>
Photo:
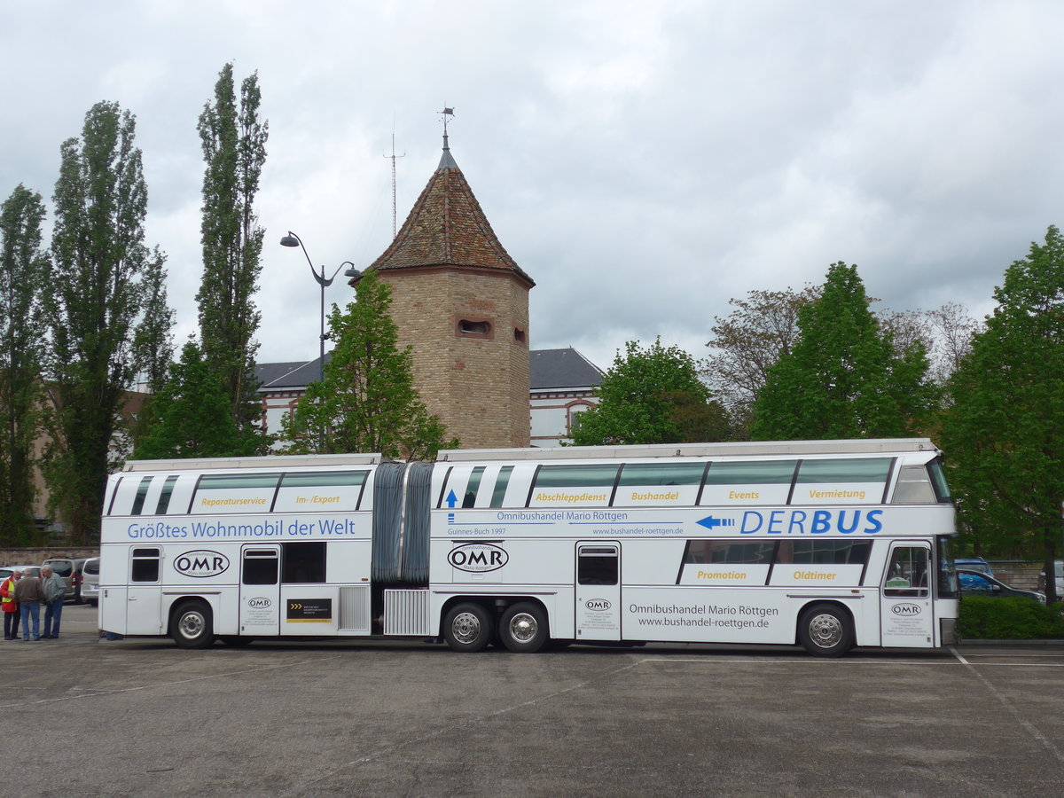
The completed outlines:
<svg viewBox="0 0 1064 798">
<path fill-rule="evenodd" d="M 510 271 L 535 282 L 510 256 L 492 230 L 446 142 L 439 166 L 384 254 L 371 269 L 470 266 Z"/>
</svg>

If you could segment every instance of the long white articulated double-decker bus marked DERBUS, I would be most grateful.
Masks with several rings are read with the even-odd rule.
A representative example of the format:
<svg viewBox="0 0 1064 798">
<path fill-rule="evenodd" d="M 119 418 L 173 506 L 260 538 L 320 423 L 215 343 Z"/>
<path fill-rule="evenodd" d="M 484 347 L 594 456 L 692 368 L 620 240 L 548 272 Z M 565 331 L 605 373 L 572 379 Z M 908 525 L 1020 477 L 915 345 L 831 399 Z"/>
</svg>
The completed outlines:
<svg viewBox="0 0 1064 798">
<path fill-rule="evenodd" d="M 953 505 L 925 438 L 130 462 L 100 619 L 197 648 L 952 642 Z"/>
</svg>

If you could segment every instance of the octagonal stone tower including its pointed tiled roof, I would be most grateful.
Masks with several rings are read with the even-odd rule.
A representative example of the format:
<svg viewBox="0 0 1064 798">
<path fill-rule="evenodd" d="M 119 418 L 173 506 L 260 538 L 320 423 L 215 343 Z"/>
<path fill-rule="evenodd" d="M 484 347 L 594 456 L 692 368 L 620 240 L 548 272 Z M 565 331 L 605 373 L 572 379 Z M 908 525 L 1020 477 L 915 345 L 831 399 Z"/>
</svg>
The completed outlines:
<svg viewBox="0 0 1064 798">
<path fill-rule="evenodd" d="M 447 145 L 384 253 L 369 266 L 392 287 L 414 384 L 464 449 L 529 445 L 529 290 Z M 352 281 L 353 282 L 353 281 Z"/>
</svg>

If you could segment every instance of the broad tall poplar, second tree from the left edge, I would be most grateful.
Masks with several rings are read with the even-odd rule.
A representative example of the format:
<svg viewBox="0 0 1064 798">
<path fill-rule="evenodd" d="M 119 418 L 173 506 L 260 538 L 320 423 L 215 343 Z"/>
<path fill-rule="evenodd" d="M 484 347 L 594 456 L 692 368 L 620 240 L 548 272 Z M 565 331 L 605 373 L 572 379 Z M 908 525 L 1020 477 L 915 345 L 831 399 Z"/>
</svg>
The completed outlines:
<svg viewBox="0 0 1064 798">
<path fill-rule="evenodd" d="M 99 532 L 107 471 L 121 459 L 126 392 L 166 360 L 164 255 L 144 244 L 148 192 L 135 117 L 100 102 L 61 148 L 44 297 L 53 404 L 46 479 L 74 543 Z M 150 361 L 150 362 L 149 362 Z M 154 365 L 153 365 L 154 364 Z"/>
</svg>

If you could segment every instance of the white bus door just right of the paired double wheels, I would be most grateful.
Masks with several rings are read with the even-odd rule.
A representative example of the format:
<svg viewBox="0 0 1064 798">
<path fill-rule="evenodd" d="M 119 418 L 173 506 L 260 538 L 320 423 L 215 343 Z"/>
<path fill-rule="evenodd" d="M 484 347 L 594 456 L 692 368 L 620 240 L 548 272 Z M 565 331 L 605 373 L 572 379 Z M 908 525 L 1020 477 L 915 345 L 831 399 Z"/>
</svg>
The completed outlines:
<svg viewBox="0 0 1064 798">
<path fill-rule="evenodd" d="M 620 639 L 620 544 L 577 544 L 577 642 Z"/>
</svg>

